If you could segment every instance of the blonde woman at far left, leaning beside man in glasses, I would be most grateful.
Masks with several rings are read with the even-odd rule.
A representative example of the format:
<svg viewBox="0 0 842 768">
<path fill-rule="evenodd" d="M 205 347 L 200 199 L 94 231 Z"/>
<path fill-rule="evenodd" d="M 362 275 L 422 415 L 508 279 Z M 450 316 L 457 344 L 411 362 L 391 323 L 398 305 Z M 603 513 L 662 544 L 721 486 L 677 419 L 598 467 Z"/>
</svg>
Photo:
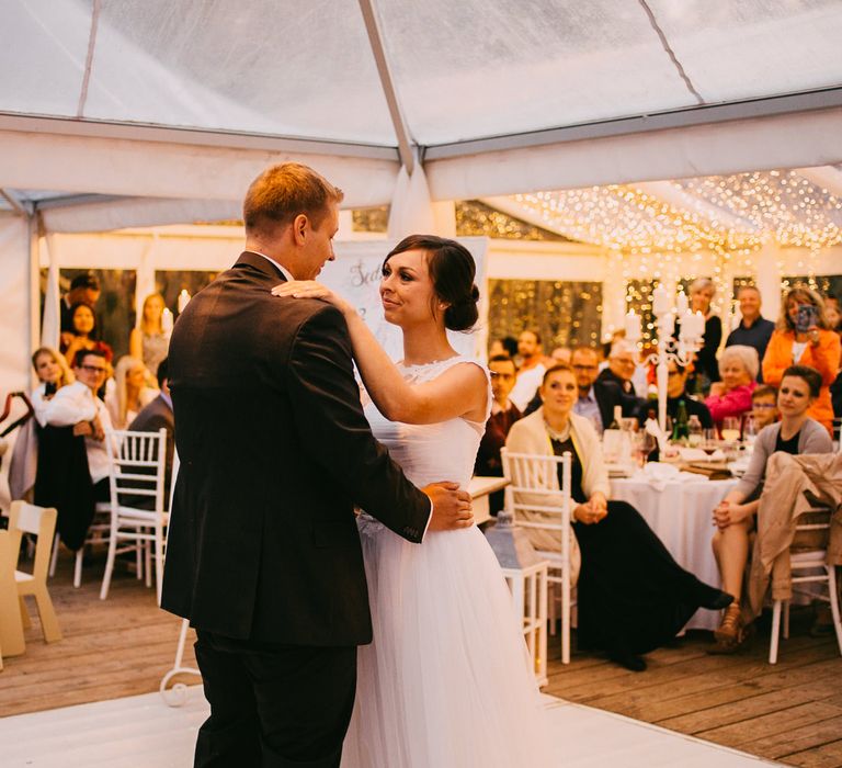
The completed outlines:
<svg viewBox="0 0 842 768">
<path fill-rule="evenodd" d="M 38 464 L 37 427 L 43 427 L 44 409 L 62 386 L 71 384 L 73 374 L 65 355 L 50 347 L 36 349 L 32 365 L 41 382 L 30 395 L 35 418 L 26 421 L 18 432 L 12 459 L 9 463 L 9 490 L 13 499 L 32 500 Z"/>
</svg>

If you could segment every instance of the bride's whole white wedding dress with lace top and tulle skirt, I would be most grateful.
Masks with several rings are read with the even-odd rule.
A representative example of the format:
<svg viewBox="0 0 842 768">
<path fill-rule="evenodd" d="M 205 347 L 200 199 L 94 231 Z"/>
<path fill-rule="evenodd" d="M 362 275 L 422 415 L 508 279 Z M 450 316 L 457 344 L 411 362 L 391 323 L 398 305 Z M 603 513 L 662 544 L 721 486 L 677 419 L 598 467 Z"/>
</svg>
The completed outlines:
<svg viewBox="0 0 842 768">
<path fill-rule="evenodd" d="M 401 372 L 410 383 L 423 382 L 460 362 L 470 361 Z M 417 486 L 467 487 L 485 422 L 392 422 L 372 403 L 365 415 Z M 342 767 L 549 765 L 546 715 L 520 620 L 479 529 L 428 532 L 422 544 L 410 544 L 363 515 L 360 532 L 374 642 L 360 648 Z"/>
</svg>

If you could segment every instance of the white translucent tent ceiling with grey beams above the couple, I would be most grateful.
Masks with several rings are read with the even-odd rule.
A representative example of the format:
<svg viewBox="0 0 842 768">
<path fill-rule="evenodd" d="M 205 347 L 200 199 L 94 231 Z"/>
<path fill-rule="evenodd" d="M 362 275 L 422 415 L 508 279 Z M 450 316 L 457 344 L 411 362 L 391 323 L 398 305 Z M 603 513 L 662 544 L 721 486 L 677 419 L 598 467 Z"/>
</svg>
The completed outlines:
<svg viewBox="0 0 842 768">
<path fill-rule="evenodd" d="M 842 161 L 840 0 L 0 0 L 0 187 L 389 202 Z M 107 156 L 107 162 L 103 162 Z M 77 201 L 75 201 L 77 202 Z"/>
</svg>

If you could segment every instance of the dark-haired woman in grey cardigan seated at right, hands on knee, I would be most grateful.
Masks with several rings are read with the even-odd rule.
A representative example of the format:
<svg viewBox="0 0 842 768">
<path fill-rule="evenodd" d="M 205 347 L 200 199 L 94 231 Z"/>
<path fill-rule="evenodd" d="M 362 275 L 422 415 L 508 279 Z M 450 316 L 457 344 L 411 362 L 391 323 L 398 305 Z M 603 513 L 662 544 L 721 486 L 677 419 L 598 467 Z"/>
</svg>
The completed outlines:
<svg viewBox="0 0 842 768">
<path fill-rule="evenodd" d="M 808 411 L 821 389 L 821 376 L 806 365 L 790 365 L 781 379 L 777 407 L 781 421 L 765 427 L 754 441 L 754 451 L 746 474 L 714 510 L 713 547 L 722 589 L 735 600 L 716 630 L 712 653 L 733 653 L 747 639 L 741 613 L 743 572 L 749 557 L 749 537 L 755 528 L 760 492 L 766 460 L 775 451 L 790 454 L 829 453 L 833 444 L 827 430 Z"/>
</svg>

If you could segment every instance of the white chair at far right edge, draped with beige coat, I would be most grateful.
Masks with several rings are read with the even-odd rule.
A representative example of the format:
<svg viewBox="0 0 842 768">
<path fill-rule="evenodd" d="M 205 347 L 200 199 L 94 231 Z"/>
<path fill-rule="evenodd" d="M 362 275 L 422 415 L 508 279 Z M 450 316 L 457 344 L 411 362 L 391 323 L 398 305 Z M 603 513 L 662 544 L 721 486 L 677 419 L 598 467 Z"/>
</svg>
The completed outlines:
<svg viewBox="0 0 842 768">
<path fill-rule="evenodd" d="M 809 597 L 817 598 L 830 603 L 830 612 L 833 617 L 833 630 L 837 633 L 837 644 L 842 654 L 842 622 L 840 622 L 839 611 L 839 590 L 837 586 L 837 566 L 828 565 L 827 550 L 824 547 L 800 547 L 798 546 L 799 534 L 808 535 L 810 539 L 821 538 L 830 533 L 831 510 L 815 509 L 806 512 L 803 518 L 805 522 L 799 522 L 795 527 L 795 540 L 789 547 L 789 568 L 792 571 L 792 580 L 794 591 L 800 584 L 827 584 L 828 594 L 815 595 L 809 592 Z M 774 600 L 772 606 L 772 636 L 769 645 L 769 663 L 777 664 L 778 639 L 781 636 L 781 613 L 784 614 L 784 640 L 789 637 L 789 600 Z"/>
</svg>

